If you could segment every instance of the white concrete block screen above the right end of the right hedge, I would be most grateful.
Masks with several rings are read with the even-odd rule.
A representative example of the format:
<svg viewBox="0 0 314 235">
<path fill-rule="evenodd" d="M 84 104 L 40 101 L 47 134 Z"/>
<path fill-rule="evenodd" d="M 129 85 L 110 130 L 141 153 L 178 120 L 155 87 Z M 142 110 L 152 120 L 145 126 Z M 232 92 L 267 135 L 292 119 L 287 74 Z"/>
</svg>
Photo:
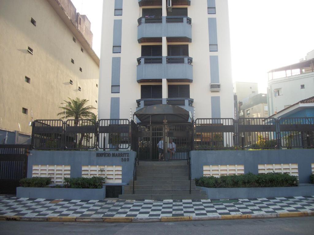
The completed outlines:
<svg viewBox="0 0 314 235">
<path fill-rule="evenodd" d="M 259 164 L 258 165 L 258 174 L 267 174 L 267 173 L 288 173 L 289 175 L 299 176 L 298 164 Z"/>
</svg>

